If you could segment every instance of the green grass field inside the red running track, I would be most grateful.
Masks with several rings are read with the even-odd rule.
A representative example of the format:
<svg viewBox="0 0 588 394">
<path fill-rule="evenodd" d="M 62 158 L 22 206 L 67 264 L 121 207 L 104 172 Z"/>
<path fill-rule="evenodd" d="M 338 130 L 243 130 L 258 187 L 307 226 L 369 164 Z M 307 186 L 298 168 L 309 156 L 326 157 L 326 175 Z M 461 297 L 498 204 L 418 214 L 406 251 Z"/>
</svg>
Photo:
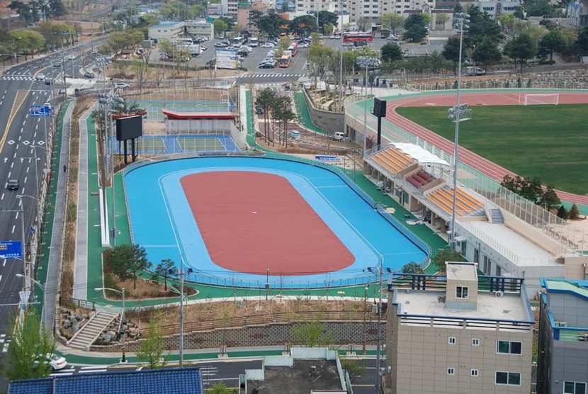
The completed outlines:
<svg viewBox="0 0 588 394">
<path fill-rule="evenodd" d="M 453 141 L 447 107 L 397 108 L 400 115 Z M 460 124 L 460 146 L 521 176 L 588 193 L 588 106 L 475 106 Z"/>
</svg>

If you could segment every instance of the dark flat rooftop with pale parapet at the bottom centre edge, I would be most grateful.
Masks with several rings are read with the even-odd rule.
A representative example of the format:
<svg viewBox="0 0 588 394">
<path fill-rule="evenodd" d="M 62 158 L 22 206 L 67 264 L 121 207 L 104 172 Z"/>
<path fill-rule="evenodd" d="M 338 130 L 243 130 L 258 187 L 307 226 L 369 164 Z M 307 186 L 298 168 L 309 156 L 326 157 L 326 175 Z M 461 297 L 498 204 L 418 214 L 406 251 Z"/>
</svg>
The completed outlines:
<svg viewBox="0 0 588 394">
<path fill-rule="evenodd" d="M 266 366 L 264 381 L 247 382 L 247 393 L 308 394 L 311 390 L 341 390 L 335 361 L 295 360 L 294 365 Z"/>
</svg>

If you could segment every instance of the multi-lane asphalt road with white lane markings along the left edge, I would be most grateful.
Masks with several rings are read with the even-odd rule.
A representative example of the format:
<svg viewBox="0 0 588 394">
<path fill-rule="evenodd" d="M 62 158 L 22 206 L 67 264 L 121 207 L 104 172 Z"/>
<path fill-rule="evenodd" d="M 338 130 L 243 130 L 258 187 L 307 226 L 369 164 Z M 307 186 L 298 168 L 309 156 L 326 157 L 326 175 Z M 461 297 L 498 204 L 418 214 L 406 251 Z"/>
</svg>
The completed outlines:
<svg viewBox="0 0 588 394">
<path fill-rule="evenodd" d="M 79 45 L 26 64 L 18 64 L 0 77 L 0 240 L 21 241 L 23 229 L 26 240 L 29 240 L 33 231 L 37 206 L 33 197 L 37 194 L 39 179 L 43 176 L 44 148 L 47 146 L 52 120 L 30 116 L 30 108 L 52 102 L 57 96 L 57 89 L 61 87 L 60 84 L 46 85 L 45 81 L 36 80 L 35 74 L 43 73 L 48 79 L 57 79 L 62 67 L 53 67 L 53 64 L 62 62 L 62 54 L 64 57 L 77 54 L 87 50 L 89 45 Z M 82 61 L 81 56 L 67 60 L 66 75 L 79 77 Z M 11 179 L 20 182 L 18 191 L 6 188 L 6 183 Z M 16 198 L 19 194 L 32 197 L 22 198 L 21 206 Z M 8 349 L 5 345 L 10 341 L 12 317 L 19 301 L 18 292 L 23 288 L 22 279 L 16 277 L 16 274 L 21 273 L 23 261 L 0 259 L 0 336 L 4 335 L 0 337 L 2 353 Z M 0 390 L 1 386 L 2 382 Z"/>
</svg>

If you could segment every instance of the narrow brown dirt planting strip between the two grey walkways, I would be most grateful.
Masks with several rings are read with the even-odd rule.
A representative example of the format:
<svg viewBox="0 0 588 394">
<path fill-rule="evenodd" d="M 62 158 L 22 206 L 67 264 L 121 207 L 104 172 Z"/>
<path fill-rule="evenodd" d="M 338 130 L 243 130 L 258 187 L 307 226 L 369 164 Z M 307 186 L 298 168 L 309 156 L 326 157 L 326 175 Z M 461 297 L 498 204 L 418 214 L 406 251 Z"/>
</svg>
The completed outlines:
<svg viewBox="0 0 588 394">
<path fill-rule="evenodd" d="M 88 111 L 94 99 L 80 97 L 77 99 L 72 113 L 71 128 L 69 129 L 69 162 L 67 164 L 67 195 L 65 235 L 62 261 L 61 298 L 67 300 L 73 295 L 74 289 L 74 259 L 76 252 L 76 220 L 77 220 L 77 181 L 79 166 L 79 118 Z"/>
</svg>

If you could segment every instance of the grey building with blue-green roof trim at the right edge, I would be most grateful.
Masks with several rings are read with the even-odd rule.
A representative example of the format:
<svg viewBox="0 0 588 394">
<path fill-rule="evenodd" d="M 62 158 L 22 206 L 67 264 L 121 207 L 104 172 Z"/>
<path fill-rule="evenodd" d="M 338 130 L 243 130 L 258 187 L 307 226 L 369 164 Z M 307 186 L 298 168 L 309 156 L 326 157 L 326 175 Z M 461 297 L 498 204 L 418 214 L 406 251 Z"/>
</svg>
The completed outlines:
<svg viewBox="0 0 588 394">
<path fill-rule="evenodd" d="M 588 281 L 541 279 L 537 390 L 588 393 Z"/>
</svg>

